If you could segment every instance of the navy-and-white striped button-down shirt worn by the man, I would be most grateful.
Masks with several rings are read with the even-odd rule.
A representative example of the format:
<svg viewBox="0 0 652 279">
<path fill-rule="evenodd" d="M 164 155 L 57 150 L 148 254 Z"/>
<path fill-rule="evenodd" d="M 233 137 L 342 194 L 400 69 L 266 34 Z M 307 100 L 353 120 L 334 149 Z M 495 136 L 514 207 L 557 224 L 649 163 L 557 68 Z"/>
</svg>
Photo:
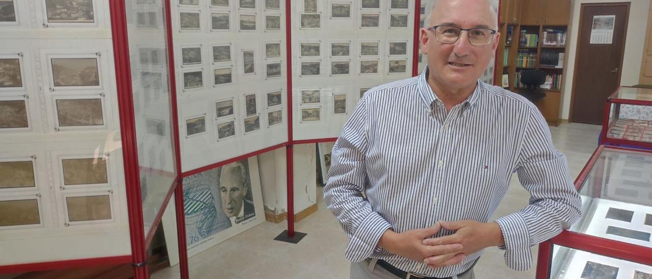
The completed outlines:
<svg viewBox="0 0 652 279">
<path fill-rule="evenodd" d="M 430 269 L 378 246 L 383 232 L 438 220 L 488 222 L 512 173 L 531 194 L 524 209 L 496 220 L 511 269 L 529 269 L 530 247 L 580 218 L 580 196 L 566 157 L 552 145 L 537 108 L 522 96 L 478 82 L 447 112 L 420 76 L 370 89 L 333 147 L 324 199 L 350 238 L 346 257 L 383 259 L 422 276 L 460 274 L 481 256 Z M 366 198 L 361 192 L 364 192 Z M 451 235 L 441 229 L 434 237 Z"/>
</svg>

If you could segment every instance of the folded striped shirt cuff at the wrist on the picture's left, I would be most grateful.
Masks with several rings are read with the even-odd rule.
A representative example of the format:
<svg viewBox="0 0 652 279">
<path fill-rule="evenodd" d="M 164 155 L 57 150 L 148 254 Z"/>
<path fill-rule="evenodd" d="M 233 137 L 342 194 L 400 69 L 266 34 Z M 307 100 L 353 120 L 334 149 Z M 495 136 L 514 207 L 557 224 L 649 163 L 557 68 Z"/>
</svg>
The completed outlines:
<svg viewBox="0 0 652 279">
<path fill-rule="evenodd" d="M 385 231 L 392 226 L 378 213 L 372 212 L 351 235 L 351 241 L 346 246 L 346 258 L 359 263 L 379 250 L 378 241 Z"/>
</svg>

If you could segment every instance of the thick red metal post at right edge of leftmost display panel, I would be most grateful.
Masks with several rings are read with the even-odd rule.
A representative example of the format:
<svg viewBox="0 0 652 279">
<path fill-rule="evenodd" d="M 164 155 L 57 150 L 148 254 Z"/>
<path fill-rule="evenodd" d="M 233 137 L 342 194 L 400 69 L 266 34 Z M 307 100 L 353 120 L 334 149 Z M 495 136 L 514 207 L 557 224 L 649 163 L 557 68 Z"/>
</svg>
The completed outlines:
<svg viewBox="0 0 652 279">
<path fill-rule="evenodd" d="M 140 175 L 138 174 L 138 143 L 136 143 L 136 121 L 133 106 L 134 100 L 132 98 L 131 63 L 126 27 L 125 1 L 109 1 L 109 5 L 111 10 L 111 33 L 113 35 L 113 53 L 115 59 L 115 83 L 119 103 L 118 109 L 121 116 L 120 130 L 125 167 L 134 278 L 149 278 L 149 269 L 144 264 L 147 260 L 147 248 L 145 247 L 143 203 L 140 192 Z"/>
</svg>

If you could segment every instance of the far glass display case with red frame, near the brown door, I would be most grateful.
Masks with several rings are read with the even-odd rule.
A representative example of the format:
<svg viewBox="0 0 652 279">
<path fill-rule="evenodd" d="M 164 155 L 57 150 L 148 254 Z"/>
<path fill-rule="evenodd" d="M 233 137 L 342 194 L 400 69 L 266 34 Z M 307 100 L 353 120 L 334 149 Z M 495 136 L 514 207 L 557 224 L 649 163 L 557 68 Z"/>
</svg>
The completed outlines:
<svg viewBox="0 0 652 279">
<path fill-rule="evenodd" d="M 652 148 L 652 89 L 619 87 L 607 98 L 600 142 Z"/>
</svg>

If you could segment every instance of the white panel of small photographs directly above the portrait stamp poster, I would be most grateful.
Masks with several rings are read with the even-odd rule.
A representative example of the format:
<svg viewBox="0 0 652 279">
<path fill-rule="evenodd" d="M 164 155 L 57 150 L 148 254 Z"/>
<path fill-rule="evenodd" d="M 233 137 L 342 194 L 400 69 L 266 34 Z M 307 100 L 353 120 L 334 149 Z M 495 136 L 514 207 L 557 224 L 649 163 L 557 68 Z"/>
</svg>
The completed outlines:
<svg viewBox="0 0 652 279">
<path fill-rule="evenodd" d="M 182 171 L 286 142 L 285 1 L 171 6 Z"/>
</svg>

